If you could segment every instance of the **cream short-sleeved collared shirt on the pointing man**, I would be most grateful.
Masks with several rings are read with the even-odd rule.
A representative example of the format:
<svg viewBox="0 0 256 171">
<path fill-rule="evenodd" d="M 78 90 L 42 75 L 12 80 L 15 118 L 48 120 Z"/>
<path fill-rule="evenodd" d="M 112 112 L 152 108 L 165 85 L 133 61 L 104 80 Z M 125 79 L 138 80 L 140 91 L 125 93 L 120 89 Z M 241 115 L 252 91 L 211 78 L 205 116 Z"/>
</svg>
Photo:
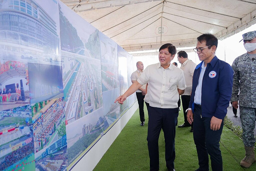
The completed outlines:
<svg viewBox="0 0 256 171">
<path fill-rule="evenodd" d="M 164 69 L 160 63 L 148 66 L 138 78 L 138 83 L 148 83 L 149 104 L 156 108 L 177 108 L 179 93 L 178 89 L 186 88 L 183 71 L 170 65 Z"/>
</svg>

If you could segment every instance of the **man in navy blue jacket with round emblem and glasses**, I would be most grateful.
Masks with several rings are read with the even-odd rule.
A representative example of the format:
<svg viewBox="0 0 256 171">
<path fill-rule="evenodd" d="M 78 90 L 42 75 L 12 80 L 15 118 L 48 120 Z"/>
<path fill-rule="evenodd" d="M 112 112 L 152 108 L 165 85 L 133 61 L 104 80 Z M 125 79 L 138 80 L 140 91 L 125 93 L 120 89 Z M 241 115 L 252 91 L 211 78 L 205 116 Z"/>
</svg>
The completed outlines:
<svg viewBox="0 0 256 171">
<path fill-rule="evenodd" d="M 212 171 L 223 170 L 219 141 L 231 98 L 233 71 L 215 56 L 217 46 L 218 39 L 207 33 L 197 38 L 194 49 L 202 62 L 194 71 L 187 120 L 194 123 L 197 171 L 209 170 L 208 154 Z"/>
</svg>

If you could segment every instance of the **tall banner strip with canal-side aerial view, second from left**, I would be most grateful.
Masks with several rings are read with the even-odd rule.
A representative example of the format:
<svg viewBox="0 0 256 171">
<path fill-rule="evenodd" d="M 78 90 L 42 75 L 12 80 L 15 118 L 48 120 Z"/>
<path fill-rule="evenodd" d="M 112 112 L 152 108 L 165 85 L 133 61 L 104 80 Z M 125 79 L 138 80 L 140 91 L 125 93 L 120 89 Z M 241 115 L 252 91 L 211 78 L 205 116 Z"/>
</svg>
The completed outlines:
<svg viewBox="0 0 256 171">
<path fill-rule="evenodd" d="M 59 3 L 68 164 L 104 131 L 99 30 Z"/>
</svg>

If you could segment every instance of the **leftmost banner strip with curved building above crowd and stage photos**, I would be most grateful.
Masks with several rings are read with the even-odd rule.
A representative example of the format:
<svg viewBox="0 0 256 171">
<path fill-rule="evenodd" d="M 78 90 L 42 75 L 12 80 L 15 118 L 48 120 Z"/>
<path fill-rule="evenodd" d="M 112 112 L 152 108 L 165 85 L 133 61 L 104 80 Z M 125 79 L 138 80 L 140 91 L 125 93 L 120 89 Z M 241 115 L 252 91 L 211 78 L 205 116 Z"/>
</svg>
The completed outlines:
<svg viewBox="0 0 256 171">
<path fill-rule="evenodd" d="M 65 170 L 57 1 L 0 2 L 0 170 Z"/>
</svg>

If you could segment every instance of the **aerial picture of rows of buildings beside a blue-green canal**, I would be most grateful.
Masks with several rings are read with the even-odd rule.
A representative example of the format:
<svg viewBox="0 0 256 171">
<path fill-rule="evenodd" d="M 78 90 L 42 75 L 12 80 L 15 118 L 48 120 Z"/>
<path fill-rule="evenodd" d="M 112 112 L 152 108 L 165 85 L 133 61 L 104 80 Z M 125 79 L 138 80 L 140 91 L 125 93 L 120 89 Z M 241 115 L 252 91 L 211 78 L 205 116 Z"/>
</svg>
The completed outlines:
<svg viewBox="0 0 256 171">
<path fill-rule="evenodd" d="M 85 50 L 87 51 L 87 50 Z M 66 124 L 102 107 L 100 60 L 62 51 Z"/>
</svg>

